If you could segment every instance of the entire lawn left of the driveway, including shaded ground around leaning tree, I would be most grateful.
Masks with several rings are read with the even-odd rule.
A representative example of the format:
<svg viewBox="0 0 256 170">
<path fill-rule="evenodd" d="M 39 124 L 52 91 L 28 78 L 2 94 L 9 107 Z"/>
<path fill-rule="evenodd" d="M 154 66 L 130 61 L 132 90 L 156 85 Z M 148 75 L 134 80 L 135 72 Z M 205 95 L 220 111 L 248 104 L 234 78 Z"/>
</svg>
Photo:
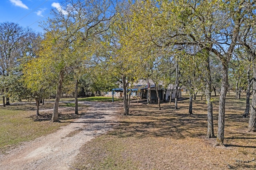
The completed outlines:
<svg viewBox="0 0 256 170">
<path fill-rule="evenodd" d="M 65 122 L 75 119 L 79 115 L 74 115 L 74 111 L 69 107 L 69 103 L 61 104 L 67 107 L 63 112 L 60 111 L 60 121 L 62 123 L 51 123 L 52 111 L 40 111 L 36 117 L 36 106 L 34 103 L 18 103 L 0 107 L 0 154 L 10 150 L 20 144 L 20 142 L 33 140 L 39 136 L 52 133 L 59 127 L 66 126 Z M 80 107 L 83 107 L 80 105 Z M 40 110 L 52 109 L 53 103 L 40 105 Z"/>
</svg>

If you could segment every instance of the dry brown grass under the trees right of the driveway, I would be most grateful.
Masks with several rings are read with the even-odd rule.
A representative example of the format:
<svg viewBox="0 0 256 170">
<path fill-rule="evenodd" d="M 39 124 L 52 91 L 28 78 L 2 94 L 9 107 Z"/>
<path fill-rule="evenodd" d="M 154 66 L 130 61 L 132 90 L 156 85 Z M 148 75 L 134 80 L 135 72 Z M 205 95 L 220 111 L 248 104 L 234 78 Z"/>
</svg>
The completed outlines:
<svg viewBox="0 0 256 170">
<path fill-rule="evenodd" d="M 228 96 L 225 147 L 206 138 L 205 100 L 194 101 L 188 114 L 188 100 L 172 105 L 132 103 L 130 116 L 118 116 L 118 126 L 86 143 L 80 150 L 79 169 L 256 169 L 256 134 L 247 132 L 242 118 L 245 99 Z M 214 100 L 214 130 L 218 127 L 218 98 Z"/>
</svg>

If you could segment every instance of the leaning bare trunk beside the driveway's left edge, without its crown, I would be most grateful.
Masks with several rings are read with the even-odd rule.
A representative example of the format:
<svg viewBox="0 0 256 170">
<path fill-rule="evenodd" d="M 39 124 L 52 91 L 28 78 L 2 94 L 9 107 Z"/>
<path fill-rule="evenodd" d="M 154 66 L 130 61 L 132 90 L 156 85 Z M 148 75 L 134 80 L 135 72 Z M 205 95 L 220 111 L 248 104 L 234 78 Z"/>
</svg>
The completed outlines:
<svg viewBox="0 0 256 170">
<path fill-rule="evenodd" d="M 52 113 L 52 119 L 51 119 L 52 122 L 58 122 L 58 108 L 59 108 L 63 79 L 64 79 L 64 70 L 61 70 L 59 75 L 56 98 L 54 101 L 54 107 L 53 107 L 53 113 Z"/>
</svg>

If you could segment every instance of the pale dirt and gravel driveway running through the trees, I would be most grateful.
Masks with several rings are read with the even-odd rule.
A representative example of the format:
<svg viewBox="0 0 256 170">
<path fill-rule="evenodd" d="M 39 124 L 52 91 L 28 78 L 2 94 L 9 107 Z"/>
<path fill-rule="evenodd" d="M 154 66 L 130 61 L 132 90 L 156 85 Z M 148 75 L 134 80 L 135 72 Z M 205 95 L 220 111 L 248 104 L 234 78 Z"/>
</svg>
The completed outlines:
<svg viewBox="0 0 256 170">
<path fill-rule="evenodd" d="M 79 148 L 116 125 L 120 114 L 118 103 L 86 102 L 88 111 L 57 132 L 42 136 L 0 157 L 0 170 L 66 170 L 79 153 Z"/>
</svg>

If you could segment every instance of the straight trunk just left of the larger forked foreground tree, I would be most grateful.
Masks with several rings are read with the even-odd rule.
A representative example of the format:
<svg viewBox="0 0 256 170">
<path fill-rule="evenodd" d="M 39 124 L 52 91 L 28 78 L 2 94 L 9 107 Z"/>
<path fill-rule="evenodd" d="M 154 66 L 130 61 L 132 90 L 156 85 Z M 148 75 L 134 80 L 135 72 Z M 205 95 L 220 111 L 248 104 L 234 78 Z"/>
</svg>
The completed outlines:
<svg viewBox="0 0 256 170">
<path fill-rule="evenodd" d="M 215 138 L 214 128 L 213 128 L 213 113 L 212 113 L 212 77 L 210 71 L 210 54 L 208 53 L 207 62 L 206 62 L 206 89 L 205 89 L 205 98 L 207 103 L 207 138 Z M 203 91 L 202 91 L 203 96 Z"/>
</svg>

